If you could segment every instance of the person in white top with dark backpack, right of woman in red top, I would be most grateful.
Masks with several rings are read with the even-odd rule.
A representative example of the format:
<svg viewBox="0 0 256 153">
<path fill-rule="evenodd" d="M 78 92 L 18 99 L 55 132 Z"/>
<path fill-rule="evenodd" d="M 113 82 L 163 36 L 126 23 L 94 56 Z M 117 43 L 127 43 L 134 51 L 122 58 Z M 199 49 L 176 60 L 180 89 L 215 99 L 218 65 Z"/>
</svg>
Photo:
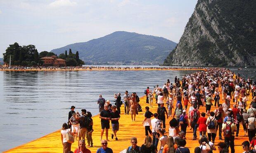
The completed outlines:
<svg viewBox="0 0 256 153">
<path fill-rule="evenodd" d="M 207 134 L 208 134 L 208 139 L 209 141 L 212 140 L 213 144 L 215 142 L 215 137 L 216 137 L 216 126 L 218 125 L 216 118 L 214 117 L 214 112 L 210 112 L 210 116 L 206 120 L 206 125 L 207 125 Z"/>
</svg>

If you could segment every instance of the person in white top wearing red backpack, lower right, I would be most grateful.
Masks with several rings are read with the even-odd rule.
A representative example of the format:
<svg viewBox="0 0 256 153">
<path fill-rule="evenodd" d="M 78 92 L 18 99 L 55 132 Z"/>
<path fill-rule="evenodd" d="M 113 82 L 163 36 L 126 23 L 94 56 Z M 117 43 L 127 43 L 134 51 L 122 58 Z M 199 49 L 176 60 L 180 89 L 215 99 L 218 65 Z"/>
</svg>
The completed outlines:
<svg viewBox="0 0 256 153">
<path fill-rule="evenodd" d="M 228 118 L 227 122 L 222 125 L 224 142 L 227 144 L 227 148 L 230 146 L 231 153 L 235 153 L 235 130 L 235 124 L 231 122 L 231 118 Z"/>
</svg>

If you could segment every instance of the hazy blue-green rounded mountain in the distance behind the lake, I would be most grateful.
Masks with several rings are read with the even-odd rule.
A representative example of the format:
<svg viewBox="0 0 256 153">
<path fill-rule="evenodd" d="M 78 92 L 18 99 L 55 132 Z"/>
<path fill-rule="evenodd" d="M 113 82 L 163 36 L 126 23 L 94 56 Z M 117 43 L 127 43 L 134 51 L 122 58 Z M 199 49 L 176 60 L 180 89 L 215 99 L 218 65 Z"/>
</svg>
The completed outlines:
<svg viewBox="0 0 256 153">
<path fill-rule="evenodd" d="M 147 61 L 163 63 L 176 43 L 163 37 L 141 35 L 134 32 L 117 31 L 88 42 L 69 44 L 52 52 L 59 55 L 65 50 L 79 52 L 85 61 Z"/>
</svg>

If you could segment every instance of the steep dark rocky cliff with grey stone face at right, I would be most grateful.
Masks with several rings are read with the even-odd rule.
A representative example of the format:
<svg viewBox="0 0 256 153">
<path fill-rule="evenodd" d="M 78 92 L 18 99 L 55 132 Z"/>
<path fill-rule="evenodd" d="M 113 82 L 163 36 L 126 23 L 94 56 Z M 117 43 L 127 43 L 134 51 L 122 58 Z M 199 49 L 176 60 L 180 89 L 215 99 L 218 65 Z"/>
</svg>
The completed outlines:
<svg viewBox="0 0 256 153">
<path fill-rule="evenodd" d="M 256 65 L 256 0 L 198 0 L 164 65 Z"/>
</svg>

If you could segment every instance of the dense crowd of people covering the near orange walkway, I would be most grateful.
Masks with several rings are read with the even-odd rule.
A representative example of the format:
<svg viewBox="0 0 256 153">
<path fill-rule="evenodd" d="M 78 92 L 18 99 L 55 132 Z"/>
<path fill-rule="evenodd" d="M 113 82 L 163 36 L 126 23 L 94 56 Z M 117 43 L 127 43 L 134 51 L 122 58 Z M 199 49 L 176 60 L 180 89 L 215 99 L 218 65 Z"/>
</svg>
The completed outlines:
<svg viewBox="0 0 256 153">
<path fill-rule="evenodd" d="M 131 146 L 121 151 L 122 153 L 190 153 L 193 151 L 194 153 L 212 153 L 217 149 L 220 153 L 229 151 L 235 153 L 236 139 L 242 135 L 239 135 L 240 125 L 244 130 L 243 137 L 248 137 L 248 141 L 236 145 L 241 145 L 243 153 L 256 152 L 256 81 L 253 82 L 250 78 L 245 80 L 225 68 L 208 68 L 206 71 L 184 75 L 182 79 L 175 77 L 174 83 L 168 79 L 162 88 L 157 85 L 150 90 L 147 87 L 144 93 L 148 104 L 142 121 L 145 127 L 145 142 L 142 146 L 137 146 L 137 138 L 132 137 Z M 249 95 L 252 95 L 251 100 Z M 116 98 L 115 105 L 111 105 L 102 95 L 97 101 L 102 126 L 102 147 L 97 150 L 97 153 L 113 152 L 107 147 L 110 121 L 113 132 L 111 138 L 115 137 L 118 141 L 117 132 L 121 114 L 130 114 L 131 121 L 135 121 L 139 111 L 140 98 L 136 93 L 128 94 L 128 91 L 125 91 L 124 112 L 120 111 L 123 104 L 121 94 L 114 94 L 114 98 Z M 149 109 L 152 108 L 153 98 L 156 99 L 158 108 L 152 113 Z M 223 104 L 220 103 L 220 99 Z M 200 112 L 200 107 L 205 107 L 205 111 Z M 211 107 L 214 107 L 214 110 Z M 80 115 L 74 111 L 74 108 L 72 106 L 69 112 L 69 123 L 64 123 L 62 126 L 65 153 L 68 153 L 71 147 L 71 142 L 65 139 L 69 132 L 74 139 L 78 137 L 79 151 L 86 148 L 85 135 L 88 147 L 93 146 L 91 114 L 82 109 Z M 169 117 L 173 118 L 169 122 L 169 127 L 166 128 L 165 121 Z M 191 138 L 186 137 L 187 127 L 193 130 Z M 104 132 L 106 139 L 102 139 Z M 220 140 L 218 144 L 215 143 L 217 134 Z M 186 139 L 198 140 L 198 147 L 193 151 L 187 148 Z M 85 152 L 90 151 L 87 149 Z"/>
</svg>

